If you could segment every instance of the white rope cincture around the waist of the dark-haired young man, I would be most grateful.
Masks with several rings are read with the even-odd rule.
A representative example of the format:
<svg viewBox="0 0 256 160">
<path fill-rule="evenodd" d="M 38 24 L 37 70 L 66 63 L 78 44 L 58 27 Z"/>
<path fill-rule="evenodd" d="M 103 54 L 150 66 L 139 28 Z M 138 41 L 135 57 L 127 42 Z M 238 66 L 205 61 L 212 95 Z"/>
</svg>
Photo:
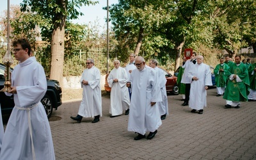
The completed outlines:
<svg viewBox="0 0 256 160">
<path fill-rule="evenodd" d="M 30 138 L 31 138 L 31 147 L 32 147 L 32 154 L 33 154 L 33 160 L 36 160 L 36 154 L 35 154 L 35 148 L 34 148 L 34 143 L 33 143 L 33 136 L 32 136 L 32 125 L 31 125 L 31 114 L 30 111 L 31 109 L 35 108 L 38 106 L 40 102 L 36 102 L 35 104 L 29 105 L 28 108 L 20 108 L 15 106 L 15 108 L 20 109 L 20 110 L 26 110 L 28 113 L 28 127 L 29 127 L 29 132 L 30 132 Z"/>
</svg>

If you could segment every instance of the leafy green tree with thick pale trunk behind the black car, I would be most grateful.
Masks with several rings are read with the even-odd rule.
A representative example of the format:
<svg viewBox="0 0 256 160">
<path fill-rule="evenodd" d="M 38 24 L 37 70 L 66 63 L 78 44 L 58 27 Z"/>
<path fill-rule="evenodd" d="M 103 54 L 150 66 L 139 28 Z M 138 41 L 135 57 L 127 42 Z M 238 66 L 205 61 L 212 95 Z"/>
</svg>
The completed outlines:
<svg viewBox="0 0 256 160">
<path fill-rule="evenodd" d="M 56 79 L 62 84 L 67 20 L 77 19 L 79 15 L 83 15 L 77 10 L 80 6 L 96 3 L 98 2 L 89 0 L 23 0 L 20 4 L 23 12 L 36 12 L 51 24 L 51 28 L 40 26 L 42 38 L 51 42 L 51 79 Z"/>
</svg>

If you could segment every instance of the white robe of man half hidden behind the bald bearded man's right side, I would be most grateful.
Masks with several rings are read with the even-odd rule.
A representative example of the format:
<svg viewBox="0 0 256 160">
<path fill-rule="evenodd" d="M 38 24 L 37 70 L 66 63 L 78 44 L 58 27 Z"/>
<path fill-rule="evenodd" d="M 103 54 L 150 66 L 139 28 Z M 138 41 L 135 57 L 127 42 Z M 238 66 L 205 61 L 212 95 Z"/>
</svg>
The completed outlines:
<svg viewBox="0 0 256 160">
<path fill-rule="evenodd" d="M 157 105 L 159 107 L 159 113 L 160 115 L 169 115 L 168 113 L 168 100 L 167 100 L 167 93 L 166 93 L 166 77 L 160 68 L 156 67 L 154 68 L 157 73 L 157 83 L 159 83 L 160 89 L 161 89 L 161 96 L 162 96 L 162 101 L 157 102 Z"/>
</svg>

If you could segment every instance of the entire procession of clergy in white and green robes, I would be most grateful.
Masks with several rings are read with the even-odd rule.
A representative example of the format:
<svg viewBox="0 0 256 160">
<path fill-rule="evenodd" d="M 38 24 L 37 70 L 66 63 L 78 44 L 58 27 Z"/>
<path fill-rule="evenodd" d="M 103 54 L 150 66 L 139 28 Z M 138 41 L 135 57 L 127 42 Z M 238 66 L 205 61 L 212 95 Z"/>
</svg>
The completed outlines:
<svg viewBox="0 0 256 160">
<path fill-rule="evenodd" d="M 51 128 L 40 102 L 47 90 L 44 68 L 30 56 L 31 46 L 25 38 L 14 40 L 13 48 L 19 64 L 11 75 L 12 90 L 5 93 L 14 95 L 15 108 L 5 131 L 0 121 L 0 160 L 55 159 Z M 204 63 L 204 56 L 196 52 L 183 60 L 178 79 L 184 100 L 181 106 L 202 115 L 207 107 L 207 90 L 212 86 L 211 69 Z M 120 67 L 119 60 L 114 60 L 113 65 L 108 75 L 110 118 L 128 116 L 127 131 L 136 133 L 134 140 L 152 140 L 171 108 L 163 70 L 157 60 L 150 60 L 147 65 L 142 56 L 134 54 L 129 55 L 129 63 L 124 68 Z M 78 124 L 83 118 L 93 118 L 93 124 L 101 123 L 100 70 L 95 66 L 95 61 L 88 58 L 81 75 L 83 99 L 77 116 L 70 116 Z M 226 100 L 225 108 L 238 109 L 241 102 L 256 101 L 256 63 L 244 65 L 241 56 L 236 56 L 235 62 L 225 56 L 214 68 L 214 75 L 216 99 L 222 96 Z"/>
</svg>

